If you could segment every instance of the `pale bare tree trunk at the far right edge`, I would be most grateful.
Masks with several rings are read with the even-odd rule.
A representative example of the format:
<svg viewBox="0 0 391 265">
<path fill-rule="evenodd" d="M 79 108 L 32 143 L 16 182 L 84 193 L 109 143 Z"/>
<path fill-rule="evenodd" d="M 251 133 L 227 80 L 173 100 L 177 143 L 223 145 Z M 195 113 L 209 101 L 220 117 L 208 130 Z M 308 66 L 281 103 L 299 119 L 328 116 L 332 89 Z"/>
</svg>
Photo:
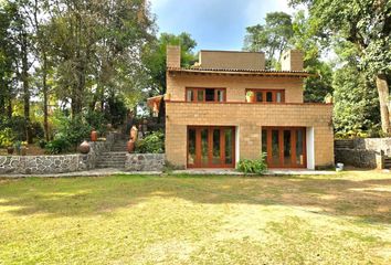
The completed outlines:
<svg viewBox="0 0 391 265">
<path fill-rule="evenodd" d="M 390 130 L 390 109 L 389 109 L 389 86 L 387 84 L 387 76 L 379 74 L 376 76 L 376 85 L 379 93 L 381 129 L 389 134 Z"/>
</svg>

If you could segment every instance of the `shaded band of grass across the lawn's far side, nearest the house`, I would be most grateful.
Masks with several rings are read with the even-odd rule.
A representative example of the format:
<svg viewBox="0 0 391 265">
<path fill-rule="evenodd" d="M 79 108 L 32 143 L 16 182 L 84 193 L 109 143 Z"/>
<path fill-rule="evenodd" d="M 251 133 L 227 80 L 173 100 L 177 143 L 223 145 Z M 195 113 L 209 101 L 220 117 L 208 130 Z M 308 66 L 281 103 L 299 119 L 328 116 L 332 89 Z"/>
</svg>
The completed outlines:
<svg viewBox="0 0 391 265">
<path fill-rule="evenodd" d="M 193 203 L 287 205 L 310 212 L 391 222 L 391 178 L 106 177 L 0 181 L 0 211 L 15 215 L 109 214 L 158 199 Z M 176 203 L 176 202 L 172 202 Z"/>
</svg>

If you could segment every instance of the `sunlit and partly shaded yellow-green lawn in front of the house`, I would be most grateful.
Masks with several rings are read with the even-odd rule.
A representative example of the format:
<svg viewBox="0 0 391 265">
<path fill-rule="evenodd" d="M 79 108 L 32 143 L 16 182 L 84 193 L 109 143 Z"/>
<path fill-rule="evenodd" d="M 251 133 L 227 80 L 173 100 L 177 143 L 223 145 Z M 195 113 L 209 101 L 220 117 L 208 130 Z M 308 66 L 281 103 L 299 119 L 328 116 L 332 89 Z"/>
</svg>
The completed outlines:
<svg viewBox="0 0 391 265">
<path fill-rule="evenodd" d="M 0 180 L 0 264 L 391 264 L 391 176 Z"/>
</svg>

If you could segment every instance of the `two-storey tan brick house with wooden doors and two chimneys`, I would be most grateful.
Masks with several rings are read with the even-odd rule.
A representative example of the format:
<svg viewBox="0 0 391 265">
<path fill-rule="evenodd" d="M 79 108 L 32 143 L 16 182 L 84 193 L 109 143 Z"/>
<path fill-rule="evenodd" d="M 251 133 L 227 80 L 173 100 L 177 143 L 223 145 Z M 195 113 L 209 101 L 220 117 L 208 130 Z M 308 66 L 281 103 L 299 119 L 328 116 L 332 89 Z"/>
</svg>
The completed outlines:
<svg viewBox="0 0 391 265">
<path fill-rule="evenodd" d="M 288 51 L 282 71 L 264 53 L 201 51 L 181 67 L 167 49 L 166 156 L 186 168 L 235 168 L 266 152 L 270 168 L 334 165 L 331 104 L 304 103 L 303 53 Z M 250 93 L 249 93 L 250 92 Z"/>
</svg>

